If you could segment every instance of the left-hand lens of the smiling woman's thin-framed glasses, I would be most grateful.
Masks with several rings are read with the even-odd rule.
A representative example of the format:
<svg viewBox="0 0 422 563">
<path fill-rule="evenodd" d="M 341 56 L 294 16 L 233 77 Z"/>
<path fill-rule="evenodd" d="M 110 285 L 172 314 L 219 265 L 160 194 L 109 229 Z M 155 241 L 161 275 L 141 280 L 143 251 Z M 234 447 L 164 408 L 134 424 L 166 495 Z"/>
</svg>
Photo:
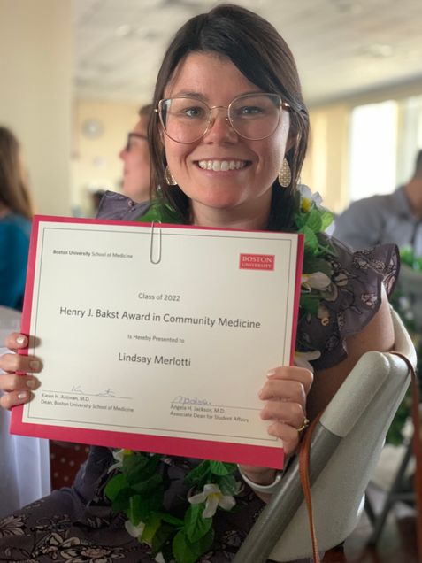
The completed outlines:
<svg viewBox="0 0 422 563">
<path fill-rule="evenodd" d="M 178 143 L 200 139 L 210 122 L 210 108 L 191 97 L 161 100 L 159 112 L 165 133 Z"/>
</svg>

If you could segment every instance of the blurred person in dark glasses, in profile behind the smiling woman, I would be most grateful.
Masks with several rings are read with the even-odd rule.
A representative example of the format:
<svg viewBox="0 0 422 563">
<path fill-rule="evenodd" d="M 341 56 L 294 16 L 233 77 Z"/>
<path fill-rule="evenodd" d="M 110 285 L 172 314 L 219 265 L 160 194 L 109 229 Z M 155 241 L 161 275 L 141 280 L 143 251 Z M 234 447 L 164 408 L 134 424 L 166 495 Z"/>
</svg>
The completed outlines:
<svg viewBox="0 0 422 563">
<path fill-rule="evenodd" d="M 122 191 L 136 203 L 150 199 L 150 149 L 148 147 L 148 123 L 152 105 L 142 105 L 139 120 L 127 134 L 127 144 L 120 150 L 123 160 Z"/>
</svg>

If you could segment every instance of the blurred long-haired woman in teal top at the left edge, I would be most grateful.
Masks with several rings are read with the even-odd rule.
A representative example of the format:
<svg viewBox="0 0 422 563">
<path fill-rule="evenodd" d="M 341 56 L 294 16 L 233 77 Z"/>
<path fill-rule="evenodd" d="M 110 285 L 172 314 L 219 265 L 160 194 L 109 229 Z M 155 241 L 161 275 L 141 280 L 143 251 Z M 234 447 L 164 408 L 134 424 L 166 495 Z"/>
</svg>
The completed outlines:
<svg viewBox="0 0 422 563">
<path fill-rule="evenodd" d="M 21 309 L 32 204 L 12 131 L 0 127 L 0 305 Z"/>
</svg>

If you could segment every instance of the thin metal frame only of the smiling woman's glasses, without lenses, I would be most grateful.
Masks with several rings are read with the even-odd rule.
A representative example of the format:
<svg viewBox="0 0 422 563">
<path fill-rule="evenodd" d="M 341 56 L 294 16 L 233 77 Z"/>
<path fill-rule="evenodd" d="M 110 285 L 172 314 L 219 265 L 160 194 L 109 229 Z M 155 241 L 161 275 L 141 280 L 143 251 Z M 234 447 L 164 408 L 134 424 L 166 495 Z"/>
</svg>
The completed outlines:
<svg viewBox="0 0 422 563">
<path fill-rule="evenodd" d="M 274 127 L 274 129 L 272 130 L 272 132 L 269 135 L 265 135 L 264 137 L 247 137 L 246 135 L 242 135 L 242 133 L 239 133 L 239 131 L 236 129 L 236 127 L 234 127 L 233 121 L 230 118 L 230 108 L 232 107 L 232 105 L 239 101 L 242 100 L 242 98 L 244 97 L 250 97 L 250 96 L 257 96 L 257 95 L 263 95 L 263 96 L 277 96 L 280 100 L 280 105 L 279 105 L 279 109 L 280 109 L 280 113 L 279 113 L 279 120 L 277 121 L 277 125 Z M 165 128 L 165 124 L 164 124 L 164 120 L 163 120 L 163 116 L 162 116 L 162 109 L 163 109 L 163 104 L 165 104 L 165 102 L 167 100 L 171 100 L 171 99 L 187 99 L 187 100 L 197 100 L 198 102 L 201 102 L 201 104 L 204 104 L 208 110 L 209 110 L 209 119 L 208 119 L 208 125 L 205 129 L 205 131 L 203 132 L 202 135 L 199 135 L 198 137 L 196 137 L 195 140 L 193 141 L 179 141 L 178 139 L 174 139 L 171 135 L 168 134 L 166 128 Z M 227 115 L 226 115 L 226 122 L 230 125 L 230 127 L 232 127 L 232 129 L 234 130 L 234 133 L 236 135 L 239 135 L 242 137 L 242 139 L 248 139 L 248 141 L 262 141 L 263 139 L 267 139 L 268 137 L 270 137 L 274 131 L 277 129 L 277 127 L 279 127 L 280 124 L 280 119 L 281 119 L 281 113 L 282 110 L 290 110 L 291 109 L 291 105 L 288 104 L 288 102 L 284 102 L 283 99 L 281 98 L 281 96 L 279 94 L 276 94 L 275 92 L 256 92 L 256 93 L 251 93 L 251 94 L 242 94 L 241 96 L 236 96 L 233 98 L 233 100 L 230 102 L 230 104 L 228 105 L 208 105 L 206 102 L 204 102 L 203 100 L 201 100 L 198 97 L 195 96 L 174 96 L 174 98 L 171 97 L 165 97 L 162 98 L 159 102 L 158 102 L 158 107 L 154 109 L 154 112 L 158 114 L 158 118 L 160 120 L 160 123 L 163 127 L 163 130 L 165 132 L 165 135 L 168 136 L 169 139 L 172 139 L 172 141 L 174 141 L 175 143 L 180 143 L 180 144 L 191 144 L 191 143 L 196 143 L 197 141 L 199 141 L 199 139 L 202 139 L 203 136 L 207 135 L 207 133 L 211 130 L 212 126 L 214 125 L 215 119 L 212 119 L 212 110 L 218 110 L 218 109 L 225 109 L 227 110 Z"/>
</svg>

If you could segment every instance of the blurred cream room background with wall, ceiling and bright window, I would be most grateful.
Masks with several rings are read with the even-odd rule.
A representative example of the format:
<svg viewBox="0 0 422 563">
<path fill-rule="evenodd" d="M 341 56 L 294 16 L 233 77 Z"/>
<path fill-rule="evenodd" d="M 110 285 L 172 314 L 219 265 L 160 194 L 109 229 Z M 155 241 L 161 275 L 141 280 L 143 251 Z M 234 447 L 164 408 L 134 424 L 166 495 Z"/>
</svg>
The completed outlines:
<svg viewBox="0 0 422 563">
<path fill-rule="evenodd" d="M 36 211 L 88 215 L 173 32 L 210 0 L 0 0 L 0 122 Z M 302 181 L 340 212 L 409 179 L 422 148 L 420 0 L 242 0 L 295 54 L 311 110 Z"/>
</svg>

